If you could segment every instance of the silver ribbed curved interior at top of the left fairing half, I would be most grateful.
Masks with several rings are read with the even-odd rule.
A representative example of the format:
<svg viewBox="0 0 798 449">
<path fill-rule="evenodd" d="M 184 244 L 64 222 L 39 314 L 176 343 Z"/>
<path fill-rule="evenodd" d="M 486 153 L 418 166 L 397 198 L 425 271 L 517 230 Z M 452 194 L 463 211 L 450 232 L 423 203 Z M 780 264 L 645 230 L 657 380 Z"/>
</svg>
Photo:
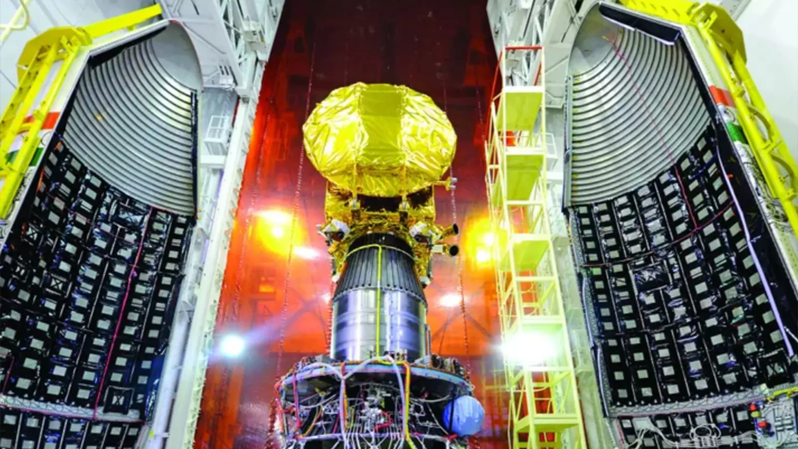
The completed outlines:
<svg viewBox="0 0 798 449">
<path fill-rule="evenodd" d="M 188 35 L 171 25 L 87 68 L 64 141 L 122 192 L 193 215 L 199 64 L 193 52 L 180 53 L 179 60 L 167 56 L 186 45 Z"/>
</svg>

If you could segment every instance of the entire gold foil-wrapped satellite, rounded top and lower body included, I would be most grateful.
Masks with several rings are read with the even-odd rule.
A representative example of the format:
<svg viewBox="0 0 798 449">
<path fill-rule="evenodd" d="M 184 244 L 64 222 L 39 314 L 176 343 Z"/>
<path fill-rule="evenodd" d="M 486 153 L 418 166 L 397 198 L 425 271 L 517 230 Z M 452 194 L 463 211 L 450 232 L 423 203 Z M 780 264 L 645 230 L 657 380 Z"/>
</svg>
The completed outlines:
<svg viewBox="0 0 798 449">
<path fill-rule="evenodd" d="M 352 241 L 390 232 L 413 248 L 416 272 L 429 283 L 433 252 L 448 252 L 450 233 L 435 224 L 433 186 L 452 164 L 456 134 L 432 98 L 405 86 L 335 89 L 305 125 L 307 156 L 327 179 L 326 223 L 338 272 Z"/>
</svg>

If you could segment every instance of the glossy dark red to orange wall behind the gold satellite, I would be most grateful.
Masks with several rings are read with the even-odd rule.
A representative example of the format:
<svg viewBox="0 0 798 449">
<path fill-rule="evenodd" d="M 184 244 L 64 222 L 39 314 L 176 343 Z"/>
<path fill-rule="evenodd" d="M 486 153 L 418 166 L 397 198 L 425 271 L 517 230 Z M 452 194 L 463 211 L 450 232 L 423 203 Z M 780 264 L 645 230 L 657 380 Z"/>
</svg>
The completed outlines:
<svg viewBox="0 0 798 449">
<path fill-rule="evenodd" d="M 463 271 L 459 276 L 454 259 L 437 260 L 426 290 L 428 321 L 433 352 L 471 361 L 472 382 L 488 412 L 481 446 L 506 446 L 503 403 L 484 389 L 492 383 L 498 340 L 493 271 L 474 257 L 486 220 L 480 115 L 495 66 L 484 1 L 287 2 L 263 77 L 216 327 L 217 335 L 245 336 L 249 346 L 239 360 L 211 357 L 196 447 L 264 447 L 275 377 L 302 356 L 326 352 L 330 262 L 315 232 L 323 221 L 325 181 L 306 162 L 297 194 L 301 126 L 307 109 L 355 81 L 429 94 L 458 134 L 452 171 L 459 180 Z M 451 222 L 452 197 L 441 191 L 436 199 L 439 222 Z M 275 229 L 275 220 L 290 219 L 294 205 L 292 246 L 315 250 L 322 255 L 317 260 L 292 256 L 288 263 L 290 225 Z M 465 317 L 444 298 L 458 292 L 460 279 Z"/>
</svg>

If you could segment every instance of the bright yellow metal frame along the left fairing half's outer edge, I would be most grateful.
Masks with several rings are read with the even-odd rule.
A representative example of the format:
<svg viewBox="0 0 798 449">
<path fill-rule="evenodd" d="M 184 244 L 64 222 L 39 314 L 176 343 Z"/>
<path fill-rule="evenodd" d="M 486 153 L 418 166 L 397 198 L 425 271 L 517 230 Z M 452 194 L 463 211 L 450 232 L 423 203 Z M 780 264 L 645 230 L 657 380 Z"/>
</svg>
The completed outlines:
<svg viewBox="0 0 798 449">
<path fill-rule="evenodd" d="M 159 5 L 148 6 L 82 28 L 57 26 L 27 42 L 17 63 L 19 85 L 0 116 L 0 180 L 4 180 L 0 187 L 0 218 L 7 218 L 11 212 L 41 141 L 41 128 L 80 51 L 96 38 L 119 30 L 132 30 L 160 13 Z M 53 76 L 56 62 L 62 64 Z M 42 96 L 45 85 L 49 87 Z M 38 107 L 31 112 L 40 97 Z M 29 113 L 30 120 L 26 120 Z M 12 152 L 11 146 L 18 138 L 22 140 L 20 148 Z"/>
</svg>

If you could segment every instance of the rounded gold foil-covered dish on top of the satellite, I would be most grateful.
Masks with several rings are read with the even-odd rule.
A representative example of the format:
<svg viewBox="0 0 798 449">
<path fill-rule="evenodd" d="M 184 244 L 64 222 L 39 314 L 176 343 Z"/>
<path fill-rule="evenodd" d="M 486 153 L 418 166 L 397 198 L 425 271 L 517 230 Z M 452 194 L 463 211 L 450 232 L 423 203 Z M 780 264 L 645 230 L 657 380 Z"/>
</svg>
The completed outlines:
<svg viewBox="0 0 798 449">
<path fill-rule="evenodd" d="M 400 197 L 440 181 L 457 138 L 429 96 L 361 82 L 330 93 L 302 131 L 307 156 L 323 177 L 371 197 Z"/>
</svg>

